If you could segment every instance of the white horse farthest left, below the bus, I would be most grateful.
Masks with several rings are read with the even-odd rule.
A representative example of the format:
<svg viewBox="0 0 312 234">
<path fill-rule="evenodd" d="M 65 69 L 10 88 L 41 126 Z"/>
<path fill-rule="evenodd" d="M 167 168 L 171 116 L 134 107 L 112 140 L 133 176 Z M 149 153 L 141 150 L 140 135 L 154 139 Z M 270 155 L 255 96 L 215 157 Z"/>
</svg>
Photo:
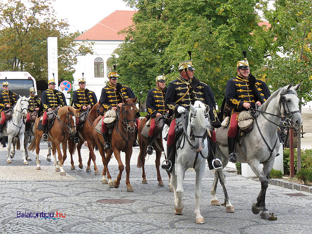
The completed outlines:
<svg viewBox="0 0 312 234">
<path fill-rule="evenodd" d="M 25 124 L 23 123 L 23 115 L 27 114 L 28 101 L 30 98 L 21 97 L 15 104 L 12 111 L 12 118 L 7 120 L 6 127 L 3 129 L 3 136 L 8 137 L 8 154 L 6 156 L 6 163 L 12 163 L 11 158 L 14 157 L 14 154 L 10 156 L 11 144 L 13 137 L 20 138 L 20 151 L 23 155 L 24 165 L 27 165 L 28 162 L 25 156 L 25 148 L 24 148 L 24 131 Z"/>
</svg>

